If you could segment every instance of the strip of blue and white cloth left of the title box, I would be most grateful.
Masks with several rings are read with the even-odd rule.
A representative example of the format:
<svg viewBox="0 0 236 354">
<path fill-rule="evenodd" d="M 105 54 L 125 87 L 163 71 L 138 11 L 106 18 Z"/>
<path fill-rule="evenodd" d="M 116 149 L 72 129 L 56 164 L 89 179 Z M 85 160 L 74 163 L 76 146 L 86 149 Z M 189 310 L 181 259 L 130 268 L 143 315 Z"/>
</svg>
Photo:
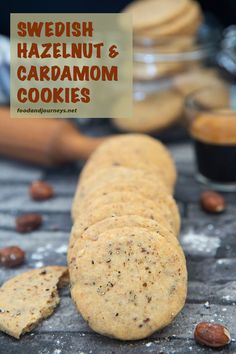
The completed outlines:
<svg viewBox="0 0 236 354">
<path fill-rule="evenodd" d="M 0 104 L 10 101 L 10 41 L 0 36 Z"/>
</svg>

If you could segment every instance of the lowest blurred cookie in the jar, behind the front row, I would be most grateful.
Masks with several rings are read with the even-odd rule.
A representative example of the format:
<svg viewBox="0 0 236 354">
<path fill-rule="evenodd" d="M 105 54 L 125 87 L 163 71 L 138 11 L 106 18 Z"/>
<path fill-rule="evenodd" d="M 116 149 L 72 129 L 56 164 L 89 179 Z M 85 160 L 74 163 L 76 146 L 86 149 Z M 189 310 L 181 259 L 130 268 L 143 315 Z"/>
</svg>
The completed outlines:
<svg viewBox="0 0 236 354">
<path fill-rule="evenodd" d="M 168 64 L 171 68 L 171 63 Z M 172 125 L 182 113 L 181 95 L 171 90 L 160 91 L 148 94 L 143 100 L 134 101 L 132 118 L 113 118 L 112 122 L 122 131 L 154 132 Z"/>
</svg>

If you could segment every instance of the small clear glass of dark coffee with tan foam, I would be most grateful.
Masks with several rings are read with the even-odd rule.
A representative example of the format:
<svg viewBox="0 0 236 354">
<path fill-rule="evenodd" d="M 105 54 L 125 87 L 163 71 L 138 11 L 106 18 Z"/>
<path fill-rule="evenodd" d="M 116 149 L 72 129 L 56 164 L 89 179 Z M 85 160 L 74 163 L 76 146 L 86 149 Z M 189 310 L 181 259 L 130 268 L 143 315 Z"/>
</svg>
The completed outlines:
<svg viewBox="0 0 236 354">
<path fill-rule="evenodd" d="M 236 191 L 235 101 L 235 87 L 225 83 L 198 90 L 185 102 L 196 177 L 220 191 Z"/>
</svg>

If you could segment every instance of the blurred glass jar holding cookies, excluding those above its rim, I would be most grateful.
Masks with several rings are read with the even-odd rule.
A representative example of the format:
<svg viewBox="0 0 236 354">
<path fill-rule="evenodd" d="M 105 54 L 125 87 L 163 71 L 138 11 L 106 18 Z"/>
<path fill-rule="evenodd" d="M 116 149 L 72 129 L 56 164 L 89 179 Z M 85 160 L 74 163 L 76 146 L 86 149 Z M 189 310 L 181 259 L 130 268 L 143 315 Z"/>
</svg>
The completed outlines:
<svg viewBox="0 0 236 354">
<path fill-rule="evenodd" d="M 221 80 L 212 69 L 219 38 L 219 31 L 206 25 L 196 36 L 136 36 L 133 118 L 113 119 L 115 126 L 155 133 L 181 122 L 185 97 Z"/>
</svg>

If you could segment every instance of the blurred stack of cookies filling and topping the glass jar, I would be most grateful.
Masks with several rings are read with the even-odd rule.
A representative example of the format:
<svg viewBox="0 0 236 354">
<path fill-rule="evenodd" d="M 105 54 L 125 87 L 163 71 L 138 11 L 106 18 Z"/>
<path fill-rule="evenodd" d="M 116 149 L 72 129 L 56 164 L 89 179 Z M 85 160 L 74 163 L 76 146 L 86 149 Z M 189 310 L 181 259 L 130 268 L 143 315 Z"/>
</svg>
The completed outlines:
<svg viewBox="0 0 236 354">
<path fill-rule="evenodd" d="M 198 49 L 196 33 L 202 11 L 193 0 L 135 0 L 124 12 L 132 14 L 133 76 L 142 85 L 134 92 L 132 118 L 112 122 L 121 131 L 159 132 L 183 116 L 184 99 L 172 80 L 200 65 L 196 55 L 189 54 Z M 153 85 L 153 80 L 159 81 Z"/>
</svg>

